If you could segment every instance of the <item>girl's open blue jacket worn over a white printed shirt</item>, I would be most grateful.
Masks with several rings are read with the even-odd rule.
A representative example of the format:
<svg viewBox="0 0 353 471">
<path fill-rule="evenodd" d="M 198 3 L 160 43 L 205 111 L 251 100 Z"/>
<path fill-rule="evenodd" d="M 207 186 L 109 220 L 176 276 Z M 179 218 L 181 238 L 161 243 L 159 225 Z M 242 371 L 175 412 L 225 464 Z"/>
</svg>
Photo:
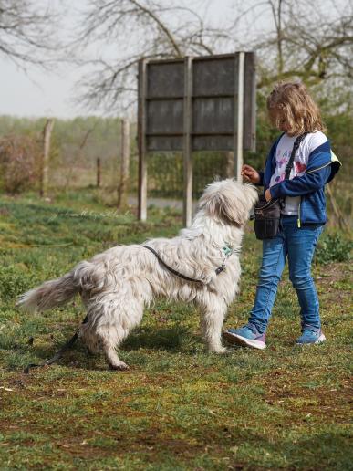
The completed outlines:
<svg viewBox="0 0 353 471">
<path fill-rule="evenodd" d="M 264 186 L 264 193 L 269 187 L 272 174 L 275 173 L 275 150 L 282 135 L 272 145 L 265 162 L 265 170 L 260 172 L 261 180 L 258 184 Z M 298 227 L 302 224 L 325 224 L 327 214 L 324 187 L 334 178 L 340 166 L 341 162 L 331 151 L 329 141 L 326 141 L 309 154 L 306 173 L 271 186 L 271 195 L 273 198 L 301 196 Z"/>
</svg>

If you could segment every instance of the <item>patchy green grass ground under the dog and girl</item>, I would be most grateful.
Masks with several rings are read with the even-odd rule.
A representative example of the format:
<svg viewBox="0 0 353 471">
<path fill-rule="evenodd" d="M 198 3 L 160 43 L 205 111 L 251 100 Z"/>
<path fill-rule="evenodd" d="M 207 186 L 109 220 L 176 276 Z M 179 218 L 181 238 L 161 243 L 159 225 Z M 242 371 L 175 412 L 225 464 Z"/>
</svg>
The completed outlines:
<svg viewBox="0 0 353 471">
<path fill-rule="evenodd" d="M 107 211 L 94 190 L 0 198 L 0 469 L 353 469 L 349 262 L 314 267 L 324 345 L 293 345 L 299 312 L 285 273 L 265 351 L 209 354 L 195 310 L 161 300 L 122 347 L 129 372 L 107 371 L 78 343 L 59 364 L 23 373 L 84 313 L 76 299 L 28 315 L 16 295 L 109 246 L 182 226 L 168 210 L 154 208 L 143 224 Z M 259 262 L 249 229 L 226 326 L 247 319 Z"/>
</svg>

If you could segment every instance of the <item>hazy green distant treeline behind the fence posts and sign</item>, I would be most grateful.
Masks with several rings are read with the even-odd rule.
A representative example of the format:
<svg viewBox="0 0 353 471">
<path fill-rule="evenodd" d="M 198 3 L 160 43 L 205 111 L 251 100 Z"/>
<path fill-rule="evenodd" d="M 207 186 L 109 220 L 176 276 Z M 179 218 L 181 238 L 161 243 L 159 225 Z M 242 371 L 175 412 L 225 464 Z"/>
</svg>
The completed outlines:
<svg viewBox="0 0 353 471">
<path fill-rule="evenodd" d="M 269 126 L 265 98 L 257 100 L 256 152 L 245 154 L 245 162 L 262 168 L 266 153 L 278 135 Z M 331 114 L 329 104 L 323 104 L 323 118 L 327 125 L 327 136 L 332 148 L 343 163 L 333 189 L 337 202 L 346 214 L 351 214 L 351 170 L 353 167 L 352 112 L 345 109 Z M 5 136 L 26 136 L 40 142 L 46 118 L 29 119 L 0 116 L 0 138 Z M 137 190 L 138 157 L 136 124 L 130 127 L 130 191 Z M 120 119 L 101 117 L 79 117 L 73 120 L 55 120 L 51 140 L 49 184 L 52 187 L 71 188 L 94 185 L 96 183 L 96 162 L 101 162 L 101 181 L 113 188 L 119 183 Z M 149 155 L 149 193 L 161 197 L 182 196 L 182 155 L 165 152 Z M 226 152 L 195 152 L 193 154 L 194 194 L 198 196 L 206 183 L 215 176 L 227 176 L 230 156 Z"/>
</svg>

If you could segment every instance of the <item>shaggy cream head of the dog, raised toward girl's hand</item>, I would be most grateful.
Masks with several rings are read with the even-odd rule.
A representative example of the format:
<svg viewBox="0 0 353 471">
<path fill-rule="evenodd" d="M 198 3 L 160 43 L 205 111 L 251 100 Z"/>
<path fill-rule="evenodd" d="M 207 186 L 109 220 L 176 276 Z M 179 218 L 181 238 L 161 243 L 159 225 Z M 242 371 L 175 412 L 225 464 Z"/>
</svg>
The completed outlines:
<svg viewBox="0 0 353 471">
<path fill-rule="evenodd" d="M 199 209 L 203 209 L 215 221 L 244 225 L 257 199 L 258 193 L 252 184 L 227 178 L 206 186 L 200 198 Z"/>
</svg>

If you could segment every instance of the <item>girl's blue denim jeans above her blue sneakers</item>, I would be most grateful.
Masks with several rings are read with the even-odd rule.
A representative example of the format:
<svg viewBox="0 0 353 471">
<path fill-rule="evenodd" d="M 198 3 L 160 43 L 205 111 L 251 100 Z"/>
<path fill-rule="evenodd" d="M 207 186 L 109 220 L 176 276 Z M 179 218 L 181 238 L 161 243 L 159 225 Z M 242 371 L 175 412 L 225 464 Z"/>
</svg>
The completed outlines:
<svg viewBox="0 0 353 471">
<path fill-rule="evenodd" d="M 281 229 L 275 239 L 263 241 L 263 262 L 256 289 L 254 308 L 249 322 L 264 333 L 275 303 L 278 282 L 288 256 L 289 279 L 296 289 L 300 305 L 302 329 L 321 327 L 318 312 L 317 290 L 311 277 L 311 261 L 317 239 L 324 225 L 312 224 L 297 227 L 296 215 L 281 217 Z"/>
</svg>

